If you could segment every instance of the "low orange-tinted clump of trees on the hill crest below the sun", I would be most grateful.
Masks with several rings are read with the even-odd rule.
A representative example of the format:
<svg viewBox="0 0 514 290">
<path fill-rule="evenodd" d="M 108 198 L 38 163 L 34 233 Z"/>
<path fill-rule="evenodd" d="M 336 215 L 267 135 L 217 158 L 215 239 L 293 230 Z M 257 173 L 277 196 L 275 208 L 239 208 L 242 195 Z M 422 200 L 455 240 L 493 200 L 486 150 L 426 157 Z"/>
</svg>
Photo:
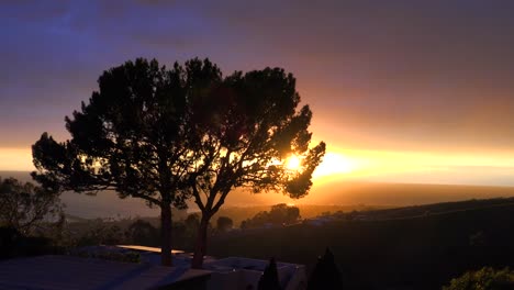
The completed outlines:
<svg viewBox="0 0 514 290">
<path fill-rule="evenodd" d="M 300 209 L 289 207 L 286 203 L 279 203 L 271 207 L 269 212 L 258 212 L 254 217 L 242 223 L 242 228 L 262 227 L 267 224 L 287 225 L 298 222 L 300 219 Z"/>
</svg>

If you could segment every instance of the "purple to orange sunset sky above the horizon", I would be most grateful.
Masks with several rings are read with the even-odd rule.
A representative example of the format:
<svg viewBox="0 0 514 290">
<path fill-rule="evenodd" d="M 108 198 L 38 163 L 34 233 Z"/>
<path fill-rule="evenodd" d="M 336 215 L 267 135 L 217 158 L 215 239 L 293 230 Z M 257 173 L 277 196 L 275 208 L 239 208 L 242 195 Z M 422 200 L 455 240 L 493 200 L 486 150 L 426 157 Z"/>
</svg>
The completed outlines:
<svg viewBox="0 0 514 290">
<path fill-rule="evenodd" d="M 136 57 L 297 77 L 327 143 L 320 182 L 514 186 L 514 1 L 0 3 L 0 170 Z"/>
</svg>

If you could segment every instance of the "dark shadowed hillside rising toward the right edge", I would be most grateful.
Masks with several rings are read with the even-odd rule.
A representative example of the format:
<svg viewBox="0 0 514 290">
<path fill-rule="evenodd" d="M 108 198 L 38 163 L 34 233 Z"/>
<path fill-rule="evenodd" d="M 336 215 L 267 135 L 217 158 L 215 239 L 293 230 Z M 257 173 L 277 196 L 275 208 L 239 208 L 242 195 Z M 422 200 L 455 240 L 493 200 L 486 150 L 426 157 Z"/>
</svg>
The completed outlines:
<svg viewBox="0 0 514 290">
<path fill-rule="evenodd" d="M 381 220 L 235 232 L 213 237 L 208 248 L 217 257 L 275 256 L 312 269 L 329 247 L 345 289 L 440 289 L 468 270 L 514 267 L 513 201 L 410 207 L 377 211 Z"/>
</svg>

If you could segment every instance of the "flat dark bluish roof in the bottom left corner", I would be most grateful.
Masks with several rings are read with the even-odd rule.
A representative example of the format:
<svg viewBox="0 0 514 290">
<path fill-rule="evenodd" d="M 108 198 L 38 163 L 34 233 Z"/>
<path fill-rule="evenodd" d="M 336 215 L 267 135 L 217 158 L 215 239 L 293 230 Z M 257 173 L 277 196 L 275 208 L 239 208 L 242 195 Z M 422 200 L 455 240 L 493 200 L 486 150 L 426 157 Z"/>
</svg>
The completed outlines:
<svg viewBox="0 0 514 290">
<path fill-rule="evenodd" d="M 202 289 L 210 271 L 72 256 L 37 256 L 0 263 L 0 289 Z M 200 288 L 195 288 L 199 287 Z"/>
</svg>

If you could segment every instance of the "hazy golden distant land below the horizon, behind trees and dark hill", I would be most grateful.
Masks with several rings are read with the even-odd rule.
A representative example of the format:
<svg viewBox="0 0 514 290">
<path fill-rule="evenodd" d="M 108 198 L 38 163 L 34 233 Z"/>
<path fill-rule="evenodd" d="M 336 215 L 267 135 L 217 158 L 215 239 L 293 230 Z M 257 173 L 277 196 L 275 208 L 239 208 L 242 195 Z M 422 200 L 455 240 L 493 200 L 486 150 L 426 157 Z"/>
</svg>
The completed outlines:
<svg viewBox="0 0 514 290">
<path fill-rule="evenodd" d="M 1 177 L 15 177 L 19 180 L 32 181 L 29 172 L 0 171 Z M 314 183 L 311 192 L 303 199 L 293 200 L 281 193 L 253 194 L 246 190 L 234 190 L 228 194 L 223 210 L 219 215 L 238 215 L 237 212 L 254 210 L 230 209 L 261 207 L 255 209 L 269 210 L 269 205 L 277 203 L 294 203 L 297 205 L 334 205 L 334 207 L 406 207 L 437 202 L 451 202 L 469 199 L 490 199 L 499 197 L 514 197 L 511 187 L 480 187 L 480 186 L 447 186 L 447 185 L 410 185 L 410 183 L 376 183 L 339 180 L 327 183 Z M 123 216 L 157 216 L 157 209 L 148 209 L 139 199 L 125 199 L 120 201 L 115 192 L 99 192 L 97 197 L 64 193 L 63 201 L 67 204 L 67 212 L 81 217 L 108 217 L 118 214 Z M 190 210 L 195 204 L 190 202 Z M 323 210 L 325 211 L 325 210 Z M 329 210 L 328 210 L 329 211 Z M 309 211 L 315 212 L 315 211 Z M 254 213 L 254 214 L 255 214 Z M 312 214 L 301 212 L 304 217 Z M 315 214 L 317 215 L 317 214 Z M 236 225 L 238 225 L 236 223 Z"/>
</svg>

